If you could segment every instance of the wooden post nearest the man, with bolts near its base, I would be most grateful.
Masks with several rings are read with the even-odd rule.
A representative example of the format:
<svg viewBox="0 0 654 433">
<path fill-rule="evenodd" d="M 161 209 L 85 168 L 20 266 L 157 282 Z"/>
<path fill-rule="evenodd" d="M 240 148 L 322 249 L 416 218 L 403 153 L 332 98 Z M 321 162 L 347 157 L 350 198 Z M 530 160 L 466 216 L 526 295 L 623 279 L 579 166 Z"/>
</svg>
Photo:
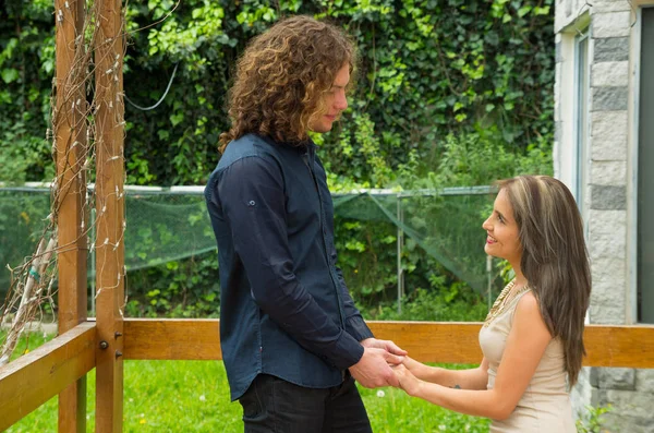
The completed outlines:
<svg viewBox="0 0 654 433">
<path fill-rule="evenodd" d="M 123 421 L 124 158 L 121 0 L 96 0 L 96 432 Z"/>
</svg>

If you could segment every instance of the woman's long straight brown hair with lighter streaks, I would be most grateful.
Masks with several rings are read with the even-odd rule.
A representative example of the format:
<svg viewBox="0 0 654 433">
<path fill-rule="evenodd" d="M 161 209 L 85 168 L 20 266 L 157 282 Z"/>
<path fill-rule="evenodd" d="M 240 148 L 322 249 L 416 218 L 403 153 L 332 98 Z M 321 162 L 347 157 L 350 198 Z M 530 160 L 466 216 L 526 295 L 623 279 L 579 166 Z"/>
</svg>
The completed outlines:
<svg viewBox="0 0 654 433">
<path fill-rule="evenodd" d="M 583 329 L 591 297 L 591 269 L 583 221 L 568 188 L 547 176 L 519 176 L 498 182 L 513 206 L 519 227 L 520 268 L 543 320 L 565 348 L 570 386 L 585 354 Z"/>
</svg>

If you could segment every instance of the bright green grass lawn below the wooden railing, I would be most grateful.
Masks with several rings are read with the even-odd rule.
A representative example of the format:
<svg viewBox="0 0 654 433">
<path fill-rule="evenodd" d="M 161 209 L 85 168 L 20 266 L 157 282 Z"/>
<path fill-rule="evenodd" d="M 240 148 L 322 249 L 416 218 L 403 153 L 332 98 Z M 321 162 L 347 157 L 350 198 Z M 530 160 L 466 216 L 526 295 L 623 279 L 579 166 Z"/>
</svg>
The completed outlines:
<svg viewBox="0 0 654 433">
<path fill-rule="evenodd" d="M 29 347 L 44 341 L 29 336 Z M 15 353 L 25 351 L 22 339 Z M 488 421 L 408 397 L 402 390 L 360 388 L 375 432 L 487 432 Z M 87 375 L 87 432 L 95 423 L 95 370 Z M 124 432 L 242 432 L 242 410 L 229 401 L 222 362 L 125 361 Z M 57 397 L 8 433 L 57 432 Z"/>
</svg>

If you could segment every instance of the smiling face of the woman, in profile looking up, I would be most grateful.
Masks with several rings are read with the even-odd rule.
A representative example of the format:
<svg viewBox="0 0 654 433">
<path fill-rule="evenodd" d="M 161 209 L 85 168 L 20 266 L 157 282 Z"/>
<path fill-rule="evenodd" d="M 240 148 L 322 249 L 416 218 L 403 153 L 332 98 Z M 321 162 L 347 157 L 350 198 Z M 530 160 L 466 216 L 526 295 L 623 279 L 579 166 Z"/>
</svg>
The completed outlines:
<svg viewBox="0 0 654 433">
<path fill-rule="evenodd" d="M 522 245 L 518 236 L 519 228 L 513 218 L 513 207 L 505 189 L 501 189 L 495 199 L 493 213 L 482 225 L 486 230 L 486 245 L 484 251 L 494 257 L 505 258 L 513 267 L 522 258 Z"/>
</svg>

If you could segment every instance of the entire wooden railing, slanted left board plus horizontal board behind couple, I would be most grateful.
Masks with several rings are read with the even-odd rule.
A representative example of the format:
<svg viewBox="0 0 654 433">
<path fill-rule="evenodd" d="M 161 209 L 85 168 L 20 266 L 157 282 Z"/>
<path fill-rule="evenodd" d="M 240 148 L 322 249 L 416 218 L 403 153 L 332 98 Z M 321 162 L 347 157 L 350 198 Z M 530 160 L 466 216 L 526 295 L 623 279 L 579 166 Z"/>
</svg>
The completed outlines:
<svg viewBox="0 0 654 433">
<path fill-rule="evenodd" d="M 479 363 L 481 323 L 370 322 L 423 362 Z M 220 360 L 217 320 L 124 320 L 126 360 Z M 654 369 L 653 326 L 589 325 L 584 365 Z M 0 369 L 0 431 L 9 428 L 96 365 L 102 340 L 85 322 Z M 98 349 L 99 348 L 99 349 Z M 106 349 L 109 350 L 109 349 Z M 121 384 L 122 385 L 122 384 Z"/>
</svg>

